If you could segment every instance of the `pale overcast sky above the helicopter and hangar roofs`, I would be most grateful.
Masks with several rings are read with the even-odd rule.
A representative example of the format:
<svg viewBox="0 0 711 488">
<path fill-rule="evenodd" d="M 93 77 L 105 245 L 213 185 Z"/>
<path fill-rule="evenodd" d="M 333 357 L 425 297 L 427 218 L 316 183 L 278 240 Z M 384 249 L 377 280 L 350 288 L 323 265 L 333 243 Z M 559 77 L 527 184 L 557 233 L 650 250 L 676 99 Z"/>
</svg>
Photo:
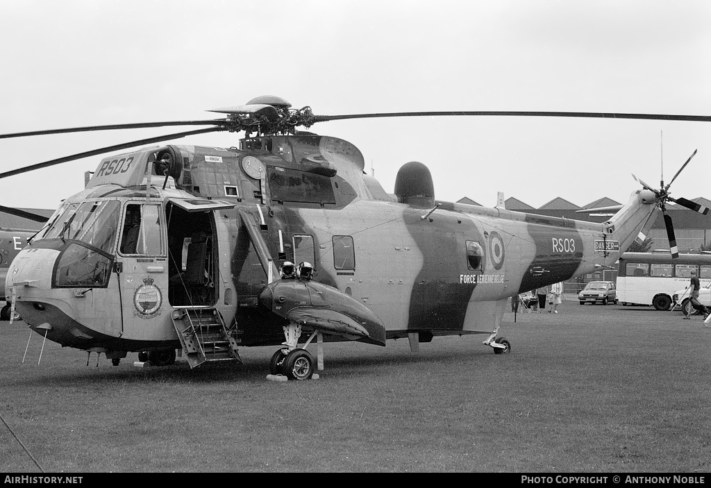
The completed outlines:
<svg viewBox="0 0 711 488">
<path fill-rule="evenodd" d="M 705 0 L 0 0 L 0 52 L 0 134 L 211 119 L 262 94 L 328 115 L 711 114 Z M 0 171 L 181 130 L 0 139 Z M 711 198 L 707 122 L 416 117 L 310 130 L 358 146 L 388 193 L 398 168 L 420 161 L 440 200 L 626 202 L 631 173 L 658 185 L 663 168 L 668 183 L 698 149 L 670 190 Z M 0 180 L 0 205 L 55 208 L 100 158 Z"/>
</svg>

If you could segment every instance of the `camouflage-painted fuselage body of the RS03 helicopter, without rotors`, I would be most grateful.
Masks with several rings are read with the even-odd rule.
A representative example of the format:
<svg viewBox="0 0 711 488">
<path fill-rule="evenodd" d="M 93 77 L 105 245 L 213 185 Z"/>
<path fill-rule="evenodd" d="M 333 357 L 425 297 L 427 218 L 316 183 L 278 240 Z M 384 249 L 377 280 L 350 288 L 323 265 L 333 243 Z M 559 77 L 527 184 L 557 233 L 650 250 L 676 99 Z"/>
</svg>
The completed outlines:
<svg viewBox="0 0 711 488">
<path fill-rule="evenodd" d="M 154 170 L 161 153 L 170 156 L 170 176 Z M 321 310 L 311 327 L 334 340 L 380 343 L 339 332 L 348 320 L 351 330 L 379 321 L 387 338 L 489 333 L 508 297 L 613 265 L 656 208 L 653 193 L 640 190 L 603 224 L 541 217 L 435 201 L 419 163 L 404 169 L 406 183 L 390 195 L 363 166 L 355 146 L 313 134 L 246 140 L 239 150 L 164 146 L 105 158 L 87 189 L 63 205 L 118 202 L 117 222 L 129 205 L 158 205 L 161 250 L 126 254 L 117 237 L 102 249 L 111 273 L 100 283 L 58 286 L 67 241 L 36 240 L 11 266 L 16 307 L 63 345 L 102 352 L 174 347 L 171 311 L 187 302 L 171 278 L 180 271 L 186 228 L 199 227 L 210 242 L 210 289 L 200 305 L 236 324 L 242 345 L 284 340 L 289 315 L 275 296 L 264 298 L 284 261 L 313 264 L 320 285 L 290 287 L 290 306 Z M 181 210 L 217 200 L 217 210 Z M 120 223 L 115 232 L 122 233 Z M 333 314 L 342 314 L 341 329 L 329 328 Z"/>
</svg>

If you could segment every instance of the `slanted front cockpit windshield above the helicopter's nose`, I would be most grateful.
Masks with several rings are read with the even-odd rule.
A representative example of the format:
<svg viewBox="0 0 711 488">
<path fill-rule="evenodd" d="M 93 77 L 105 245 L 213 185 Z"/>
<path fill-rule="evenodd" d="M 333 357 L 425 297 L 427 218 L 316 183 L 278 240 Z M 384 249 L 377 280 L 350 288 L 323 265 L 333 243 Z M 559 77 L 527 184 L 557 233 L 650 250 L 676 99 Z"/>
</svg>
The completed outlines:
<svg viewBox="0 0 711 488">
<path fill-rule="evenodd" d="M 76 239 L 112 254 L 120 208 L 116 200 L 67 205 L 47 229 L 43 239 Z"/>
</svg>

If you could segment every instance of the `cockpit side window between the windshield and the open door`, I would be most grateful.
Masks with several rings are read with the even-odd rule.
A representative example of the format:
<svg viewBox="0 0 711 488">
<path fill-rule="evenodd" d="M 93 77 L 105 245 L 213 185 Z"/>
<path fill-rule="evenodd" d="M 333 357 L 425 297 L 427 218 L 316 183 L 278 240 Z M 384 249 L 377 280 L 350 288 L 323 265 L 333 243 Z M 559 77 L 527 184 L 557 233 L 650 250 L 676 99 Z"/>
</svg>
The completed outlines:
<svg viewBox="0 0 711 488">
<path fill-rule="evenodd" d="M 126 205 L 120 251 L 122 254 L 163 256 L 160 205 Z"/>
</svg>

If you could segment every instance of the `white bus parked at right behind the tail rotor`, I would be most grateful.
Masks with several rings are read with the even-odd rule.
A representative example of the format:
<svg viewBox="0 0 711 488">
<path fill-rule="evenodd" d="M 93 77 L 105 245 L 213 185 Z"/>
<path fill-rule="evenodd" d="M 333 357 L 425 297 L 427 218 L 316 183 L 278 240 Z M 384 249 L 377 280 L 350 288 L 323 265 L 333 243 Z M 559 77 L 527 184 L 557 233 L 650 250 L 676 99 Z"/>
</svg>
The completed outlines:
<svg viewBox="0 0 711 488">
<path fill-rule="evenodd" d="M 689 286 L 692 270 L 701 286 L 711 283 L 711 253 L 679 254 L 672 259 L 668 251 L 626 252 L 619 260 L 617 299 L 622 305 L 669 310 L 674 292 Z"/>
</svg>

